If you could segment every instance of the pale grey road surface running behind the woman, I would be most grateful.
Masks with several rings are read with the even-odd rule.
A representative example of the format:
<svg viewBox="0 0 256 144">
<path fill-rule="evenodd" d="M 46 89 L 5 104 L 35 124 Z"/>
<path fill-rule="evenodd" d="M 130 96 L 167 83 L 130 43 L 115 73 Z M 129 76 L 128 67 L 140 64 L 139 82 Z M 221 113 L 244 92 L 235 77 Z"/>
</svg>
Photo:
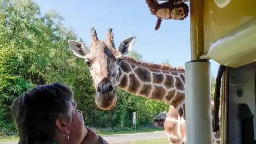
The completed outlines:
<svg viewBox="0 0 256 144">
<path fill-rule="evenodd" d="M 141 140 L 148 140 L 148 139 L 154 139 L 154 138 L 164 138 L 167 136 L 165 131 L 158 131 L 158 132 L 143 132 L 143 133 L 135 133 L 135 134 L 103 135 L 102 137 L 107 141 L 130 142 L 130 141 L 141 141 Z M 3 142 L 0 144 L 18 144 L 18 143 L 17 141 L 12 141 L 12 142 Z M 114 144 L 114 143 L 111 142 L 111 144 Z"/>
</svg>

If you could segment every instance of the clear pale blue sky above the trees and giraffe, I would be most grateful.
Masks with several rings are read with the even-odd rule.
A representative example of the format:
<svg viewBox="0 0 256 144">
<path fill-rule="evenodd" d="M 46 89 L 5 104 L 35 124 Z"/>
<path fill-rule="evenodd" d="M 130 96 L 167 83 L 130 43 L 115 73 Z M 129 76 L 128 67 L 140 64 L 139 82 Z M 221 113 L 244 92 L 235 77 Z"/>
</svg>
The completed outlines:
<svg viewBox="0 0 256 144">
<path fill-rule="evenodd" d="M 133 50 L 148 62 L 169 60 L 172 66 L 190 61 L 190 17 L 185 20 L 163 20 L 154 30 L 157 17 L 150 14 L 145 0 L 34 0 L 41 12 L 55 10 L 64 17 L 64 26 L 72 26 L 76 34 L 90 45 L 90 28 L 96 29 L 99 40 L 105 40 L 113 28 L 114 43 L 136 36 Z M 189 3 L 187 3 L 189 5 Z M 216 77 L 219 64 L 210 60 Z"/>
</svg>

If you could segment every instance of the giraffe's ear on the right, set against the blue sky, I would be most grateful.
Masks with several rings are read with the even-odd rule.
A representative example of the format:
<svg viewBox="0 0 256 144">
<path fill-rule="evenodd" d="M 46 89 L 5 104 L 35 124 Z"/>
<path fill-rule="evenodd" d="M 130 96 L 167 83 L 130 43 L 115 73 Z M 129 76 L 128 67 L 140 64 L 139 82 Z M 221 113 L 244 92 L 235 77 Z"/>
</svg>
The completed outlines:
<svg viewBox="0 0 256 144">
<path fill-rule="evenodd" d="M 122 40 L 117 50 L 121 52 L 122 55 L 127 55 L 129 52 L 131 52 L 132 48 L 134 47 L 135 40 L 136 37 L 128 37 Z"/>
</svg>

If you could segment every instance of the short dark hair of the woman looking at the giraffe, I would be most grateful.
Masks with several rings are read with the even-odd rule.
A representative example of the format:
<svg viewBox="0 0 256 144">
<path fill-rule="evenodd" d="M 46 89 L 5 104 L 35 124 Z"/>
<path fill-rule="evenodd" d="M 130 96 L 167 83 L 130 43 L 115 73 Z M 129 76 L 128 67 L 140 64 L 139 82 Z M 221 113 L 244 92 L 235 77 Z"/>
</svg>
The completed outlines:
<svg viewBox="0 0 256 144">
<path fill-rule="evenodd" d="M 18 96 L 11 111 L 20 137 L 19 144 L 52 141 L 57 118 L 68 118 L 71 123 L 72 99 L 72 89 L 60 83 L 40 85 Z"/>
</svg>

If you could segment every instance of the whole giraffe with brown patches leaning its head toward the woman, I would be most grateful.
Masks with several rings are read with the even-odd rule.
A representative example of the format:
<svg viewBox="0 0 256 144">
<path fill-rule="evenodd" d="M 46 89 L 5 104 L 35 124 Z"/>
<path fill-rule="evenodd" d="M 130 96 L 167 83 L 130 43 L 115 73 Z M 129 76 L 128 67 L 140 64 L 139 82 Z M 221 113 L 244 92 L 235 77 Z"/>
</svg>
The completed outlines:
<svg viewBox="0 0 256 144">
<path fill-rule="evenodd" d="M 104 41 L 98 39 L 93 27 L 90 35 L 90 51 L 78 41 L 68 40 L 68 43 L 74 55 L 84 58 L 90 69 L 97 107 L 111 110 L 116 106 L 117 86 L 135 95 L 164 101 L 170 104 L 164 123 L 169 143 L 186 144 L 185 69 L 147 63 L 127 56 L 136 37 L 122 40 L 116 48 L 111 28 Z M 213 132 L 213 144 L 220 144 L 219 132 Z"/>
</svg>

